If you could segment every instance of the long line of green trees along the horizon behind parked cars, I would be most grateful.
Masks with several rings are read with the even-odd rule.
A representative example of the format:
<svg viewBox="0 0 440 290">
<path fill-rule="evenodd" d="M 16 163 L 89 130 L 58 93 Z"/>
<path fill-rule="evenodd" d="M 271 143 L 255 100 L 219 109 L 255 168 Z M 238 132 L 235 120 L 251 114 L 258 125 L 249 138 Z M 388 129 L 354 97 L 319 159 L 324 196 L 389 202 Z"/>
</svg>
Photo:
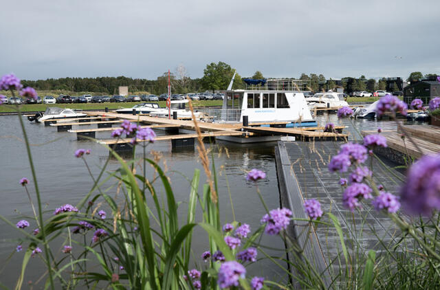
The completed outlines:
<svg viewBox="0 0 440 290">
<path fill-rule="evenodd" d="M 170 74 L 171 90 L 173 93 L 189 93 L 198 91 L 217 91 L 226 89 L 234 74 L 233 69 L 227 63 L 210 63 L 203 69 L 202 78 L 190 78 L 183 65 L 179 65 L 173 73 Z M 426 74 L 424 77 L 436 76 Z M 256 71 L 249 78 L 263 79 L 261 71 Z M 423 78 L 419 71 L 412 72 L 407 81 L 417 81 Z M 343 87 L 344 91 L 375 91 L 377 89 L 386 89 L 386 78 L 376 81 L 373 78 L 366 79 L 347 77 L 342 80 L 328 80 L 322 74 L 301 74 L 300 80 L 308 80 L 307 88 L 310 91 L 325 91 Z M 155 80 L 144 78 L 118 77 L 98 77 L 98 78 L 48 78 L 47 80 L 22 80 L 23 85 L 34 87 L 40 91 L 61 90 L 73 92 L 91 92 L 114 95 L 118 94 L 118 87 L 129 87 L 130 93 L 148 91 L 159 95 L 167 92 L 168 72 L 157 76 Z M 398 90 L 398 86 L 394 90 Z M 234 89 L 244 89 L 245 85 L 241 76 L 237 73 L 234 78 Z"/>
</svg>

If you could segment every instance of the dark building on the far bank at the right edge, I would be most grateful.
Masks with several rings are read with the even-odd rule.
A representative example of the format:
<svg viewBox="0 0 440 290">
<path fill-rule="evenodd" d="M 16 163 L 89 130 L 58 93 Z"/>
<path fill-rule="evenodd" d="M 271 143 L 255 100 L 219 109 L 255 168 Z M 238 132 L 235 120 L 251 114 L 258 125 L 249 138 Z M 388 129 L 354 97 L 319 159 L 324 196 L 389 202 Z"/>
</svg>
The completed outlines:
<svg viewBox="0 0 440 290">
<path fill-rule="evenodd" d="M 440 82 L 437 80 L 421 80 L 404 87 L 404 101 L 410 104 L 415 98 L 428 104 L 432 98 L 440 97 Z"/>
</svg>

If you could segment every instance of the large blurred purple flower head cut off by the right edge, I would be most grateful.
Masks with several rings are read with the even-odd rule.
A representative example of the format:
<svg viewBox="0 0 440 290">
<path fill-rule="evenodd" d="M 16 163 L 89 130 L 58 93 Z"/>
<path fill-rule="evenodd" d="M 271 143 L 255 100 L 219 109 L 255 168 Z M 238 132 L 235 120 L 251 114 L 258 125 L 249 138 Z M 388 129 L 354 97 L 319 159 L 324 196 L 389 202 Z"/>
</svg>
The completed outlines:
<svg viewBox="0 0 440 290">
<path fill-rule="evenodd" d="M 412 164 L 400 194 L 412 213 L 429 215 L 440 210 L 440 155 L 426 155 Z"/>
</svg>

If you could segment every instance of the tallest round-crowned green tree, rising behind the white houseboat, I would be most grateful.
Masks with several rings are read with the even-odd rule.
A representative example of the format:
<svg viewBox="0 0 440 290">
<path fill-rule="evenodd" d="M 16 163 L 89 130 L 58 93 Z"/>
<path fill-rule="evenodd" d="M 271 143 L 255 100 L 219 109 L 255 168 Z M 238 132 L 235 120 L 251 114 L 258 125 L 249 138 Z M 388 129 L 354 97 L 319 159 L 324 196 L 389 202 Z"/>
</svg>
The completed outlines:
<svg viewBox="0 0 440 290">
<path fill-rule="evenodd" d="M 203 88 L 212 91 L 227 89 L 233 75 L 234 69 L 227 63 L 221 61 L 219 63 L 210 63 L 206 65 L 206 69 L 203 69 Z M 241 77 L 239 78 L 241 80 Z M 237 76 L 235 76 L 234 86 L 239 86 Z"/>
</svg>

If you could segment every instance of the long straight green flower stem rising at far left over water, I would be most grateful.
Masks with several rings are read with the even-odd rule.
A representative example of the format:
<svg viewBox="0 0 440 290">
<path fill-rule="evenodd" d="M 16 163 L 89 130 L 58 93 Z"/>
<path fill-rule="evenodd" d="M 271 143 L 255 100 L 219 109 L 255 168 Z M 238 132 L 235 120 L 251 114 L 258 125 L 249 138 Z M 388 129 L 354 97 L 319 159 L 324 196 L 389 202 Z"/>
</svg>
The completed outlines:
<svg viewBox="0 0 440 290">
<path fill-rule="evenodd" d="M 14 91 L 12 91 L 12 96 L 15 96 Z M 46 235 L 45 235 L 45 229 L 44 229 L 44 223 L 43 223 L 43 208 L 41 206 L 39 183 L 38 183 L 38 181 L 36 181 L 36 172 L 35 172 L 35 168 L 34 168 L 34 161 L 32 161 L 32 153 L 30 152 L 28 135 L 26 134 L 25 125 L 23 124 L 23 118 L 21 118 L 21 111 L 20 111 L 20 107 L 18 105 L 17 105 L 17 113 L 19 114 L 21 131 L 23 131 L 23 138 L 24 138 L 25 144 L 26 144 L 26 151 L 28 152 L 29 165 L 30 165 L 30 169 L 32 171 L 32 178 L 34 179 L 36 200 L 39 205 L 39 220 L 40 220 L 40 225 L 41 225 L 41 238 L 43 240 L 43 246 L 45 249 L 45 256 L 46 256 L 45 260 L 46 260 L 46 265 L 47 265 L 47 271 L 49 271 L 50 287 L 52 290 L 54 290 L 55 289 L 54 288 L 54 278 L 52 277 L 52 266 L 50 265 L 49 246 L 47 245 L 47 242 L 46 242 Z"/>
</svg>

